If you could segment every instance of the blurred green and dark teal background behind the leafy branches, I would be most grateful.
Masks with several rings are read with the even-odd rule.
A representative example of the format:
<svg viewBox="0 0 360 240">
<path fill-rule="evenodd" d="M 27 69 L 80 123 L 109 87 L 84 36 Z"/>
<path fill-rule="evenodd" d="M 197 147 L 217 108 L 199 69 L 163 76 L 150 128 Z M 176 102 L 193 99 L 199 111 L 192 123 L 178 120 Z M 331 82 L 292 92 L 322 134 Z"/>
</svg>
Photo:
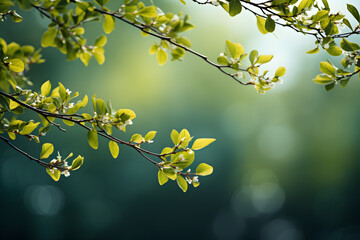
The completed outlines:
<svg viewBox="0 0 360 240">
<path fill-rule="evenodd" d="M 57 49 L 44 49 L 46 63 L 29 72 L 34 89 L 46 80 L 61 82 L 80 96 L 96 93 L 114 108 L 134 110 L 134 125 L 117 136 L 128 140 L 132 133 L 156 130 L 153 151 L 171 145 L 173 128 L 216 138 L 196 156 L 214 173 L 187 193 L 173 181 L 159 186 L 157 169 L 132 149 L 120 146 L 114 160 L 107 141 L 93 150 L 86 132 L 66 127 L 67 133 L 53 128 L 43 142 L 54 143 L 54 155 L 81 154 L 85 163 L 54 182 L 0 143 L 0 239 L 360 239 L 357 77 L 345 89 L 326 92 L 312 78 L 329 56 L 305 54 L 314 39 L 280 28 L 261 35 L 247 13 L 230 18 L 190 0 L 185 6 L 154 2 L 164 11 L 189 13 L 196 28 L 184 36 L 213 60 L 225 40 L 241 43 L 248 53 L 274 54 L 264 69 L 285 66 L 283 84 L 260 95 L 189 54 L 183 62 L 159 66 L 148 54 L 157 39 L 118 21 L 102 66 L 92 59 L 84 67 L 80 60 L 67 62 Z M 345 2 L 329 3 L 346 12 Z M 40 47 L 49 22 L 35 11 L 21 15 L 22 23 L 1 23 L 0 36 Z M 90 42 L 101 34 L 100 25 L 87 25 Z M 338 65 L 341 58 L 331 60 Z M 40 153 L 33 142 L 18 139 L 17 145 Z"/>
</svg>

